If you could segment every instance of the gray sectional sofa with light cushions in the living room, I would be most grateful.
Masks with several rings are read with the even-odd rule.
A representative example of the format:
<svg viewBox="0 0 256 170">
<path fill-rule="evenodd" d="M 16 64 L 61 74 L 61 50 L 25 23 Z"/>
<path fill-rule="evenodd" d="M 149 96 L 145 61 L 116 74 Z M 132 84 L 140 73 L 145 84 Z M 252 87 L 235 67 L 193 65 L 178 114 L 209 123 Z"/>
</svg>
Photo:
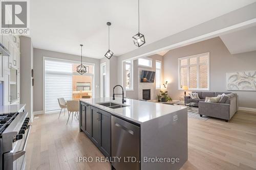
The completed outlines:
<svg viewBox="0 0 256 170">
<path fill-rule="evenodd" d="M 225 103 L 210 103 L 204 102 L 205 97 L 215 97 L 218 94 L 230 94 L 231 92 L 209 92 L 209 91 L 193 91 L 192 93 L 198 93 L 200 99 L 190 99 L 189 96 L 184 96 L 185 104 L 190 102 L 198 103 L 200 116 L 206 115 L 211 117 L 217 117 L 225 119 L 226 122 L 231 119 L 234 113 L 238 110 L 238 96 L 234 94 L 231 98 L 228 98 Z"/>
</svg>

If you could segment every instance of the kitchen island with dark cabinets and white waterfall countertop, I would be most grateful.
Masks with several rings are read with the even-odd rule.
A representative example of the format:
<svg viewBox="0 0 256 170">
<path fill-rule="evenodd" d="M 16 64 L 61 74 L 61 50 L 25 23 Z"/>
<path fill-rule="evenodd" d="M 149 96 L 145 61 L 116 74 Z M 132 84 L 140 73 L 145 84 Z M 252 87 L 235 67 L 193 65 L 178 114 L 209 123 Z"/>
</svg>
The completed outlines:
<svg viewBox="0 0 256 170">
<path fill-rule="evenodd" d="M 111 163 L 113 169 L 180 169 L 187 160 L 186 107 L 132 99 L 122 104 L 121 98 L 80 99 L 79 120 L 79 130 L 103 155 L 121 157 L 121 162 Z"/>
</svg>

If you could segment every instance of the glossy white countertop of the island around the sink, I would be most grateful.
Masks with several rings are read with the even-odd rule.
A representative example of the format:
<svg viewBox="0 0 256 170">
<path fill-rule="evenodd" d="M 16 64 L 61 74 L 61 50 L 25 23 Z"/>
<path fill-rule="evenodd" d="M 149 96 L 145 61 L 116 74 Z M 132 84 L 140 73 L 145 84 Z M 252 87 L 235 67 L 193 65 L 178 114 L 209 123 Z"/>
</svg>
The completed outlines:
<svg viewBox="0 0 256 170">
<path fill-rule="evenodd" d="M 95 106 L 99 109 L 110 112 L 114 115 L 118 115 L 125 119 L 131 120 L 132 122 L 142 124 L 154 118 L 174 113 L 176 111 L 186 109 L 184 106 L 166 105 L 161 103 L 145 102 L 133 99 L 125 99 L 126 102 L 122 104 L 121 98 L 91 98 L 91 99 L 80 99 L 81 102 L 87 103 L 91 106 Z M 99 105 L 97 103 L 113 102 L 121 105 L 128 105 L 127 107 L 111 109 Z"/>
</svg>

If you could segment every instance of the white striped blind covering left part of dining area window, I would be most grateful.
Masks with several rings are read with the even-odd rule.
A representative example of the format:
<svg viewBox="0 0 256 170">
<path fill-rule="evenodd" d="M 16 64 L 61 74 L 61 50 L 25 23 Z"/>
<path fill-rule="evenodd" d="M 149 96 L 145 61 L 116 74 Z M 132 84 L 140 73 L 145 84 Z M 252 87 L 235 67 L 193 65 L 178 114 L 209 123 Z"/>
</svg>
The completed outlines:
<svg viewBox="0 0 256 170">
<path fill-rule="evenodd" d="M 45 111 L 60 109 L 58 98 L 72 100 L 72 64 L 45 60 Z"/>
</svg>

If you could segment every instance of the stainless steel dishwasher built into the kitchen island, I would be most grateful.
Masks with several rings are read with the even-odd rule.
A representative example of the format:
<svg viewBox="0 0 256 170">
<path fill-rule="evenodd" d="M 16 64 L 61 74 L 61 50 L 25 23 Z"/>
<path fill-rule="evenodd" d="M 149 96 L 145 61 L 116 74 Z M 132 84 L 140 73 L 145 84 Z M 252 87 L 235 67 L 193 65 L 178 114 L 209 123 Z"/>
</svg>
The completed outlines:
<svg viewBox="0 0 256 170">
<path fill-rule="evenodd" d="M 140 127 L 116 116 L 111 116 L 111 124 L 112 157 L 120 158 L 112 166 L 116 170 L 139 170 Z"/>
</svg>

